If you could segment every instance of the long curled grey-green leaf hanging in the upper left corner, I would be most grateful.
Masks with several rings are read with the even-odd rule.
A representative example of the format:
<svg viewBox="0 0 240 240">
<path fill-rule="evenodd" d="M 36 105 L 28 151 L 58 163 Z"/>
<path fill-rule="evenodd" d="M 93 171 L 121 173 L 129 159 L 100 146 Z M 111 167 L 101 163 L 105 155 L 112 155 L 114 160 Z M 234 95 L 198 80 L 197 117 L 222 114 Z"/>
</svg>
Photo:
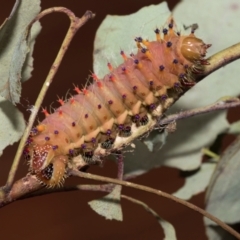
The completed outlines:
<svg viewBox="0 0 240 240">
<path fill-rule="evenodd" d="M 40 0 L 16 1 L 10 16 L 0 29 L 0 95 L 13 104 L 20 100 L 21 82 L 31 76 L 30 46 L 33 46 L 33 38 L 37 36 L 41 27 L 39 24 L 35 25 L 30 34 L 31 38 L 28 39 L 26 39 L 26 27 L 39 11 Z M 24 71 L 23 78 L 22 71 Z"/>
</svg>

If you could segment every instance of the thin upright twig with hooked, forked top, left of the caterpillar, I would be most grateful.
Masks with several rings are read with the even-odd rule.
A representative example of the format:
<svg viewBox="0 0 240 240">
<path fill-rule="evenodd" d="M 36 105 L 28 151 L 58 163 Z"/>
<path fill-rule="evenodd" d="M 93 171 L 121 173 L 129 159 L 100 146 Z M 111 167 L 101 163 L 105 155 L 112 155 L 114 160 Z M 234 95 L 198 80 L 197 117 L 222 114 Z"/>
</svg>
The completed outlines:
<svg viewBox="0 0 240 240">
<path fill-rule="evenodd" d="M 12 187 L 13 181 L 14 181 L 14 177 L 20 162 L 20 158 L 22 156 L 22 152 L 26 143 L 26 140 L 28 138 L 28 135 L 30 134 L 30 131 L 32 129 L 32 126 L 34 124 L 34 121 L 36 119 L 37 113 L 39 111 L 39 108 L 41 107 L 41 104 L 43 102 L 43 99 L 46 95 L 46 92 L 55 76 L 55 74 L 58 71 L 58 68 L 62 62 L 63 56 L 65 55 L 68 46 L 71 43 L 72 38 L 74 37 L 75 33 L 77 32 L 77 30 L 83 26 L 89 19 L 94 17 L 94 14 L 90 11 L 87 11 L 82 18 L 77 18 L 69 9 L 66 9 L 64 7 L 54 7 L 54 8 L 49 8 L 44 10 L 43 12 L 41 12 L 40 14 L 38 14 L 38 16 L 30 23 L 29 27 L 28 27 L 28 31 L 30 30 L 32 24 L 36 21 L 38 21 L 39 19 L 41 19 L 42 17 L 44 17 L 47 14 L 50 14 L 52 12 L 62 12 L 68 15 L 68 17 L 70 18 L 70 26 L 68 29 L 68 32 L 63 40 L 62 46 L 58 52 L 58 55 L 56 57 L 56 59 L 54 60 L 52 67 L 48 73 L 48 76 L 42 86 L 42 89 L 38 95 L 38 98 L 35 102 L 34 108 L 32 109 L 31 115 L 29 117 L 29 121 L 28 121 L 28 125 L 24 131 L 23 137 L 20 141 L 17 153 L 15 155 L 15 158 L 13 160 L 11 169 L 9 171 L 9 175 L 8 175 L 8 179 L 5 185 L 5 192 L 9 191 L 9 189 Z"/>
</svg>

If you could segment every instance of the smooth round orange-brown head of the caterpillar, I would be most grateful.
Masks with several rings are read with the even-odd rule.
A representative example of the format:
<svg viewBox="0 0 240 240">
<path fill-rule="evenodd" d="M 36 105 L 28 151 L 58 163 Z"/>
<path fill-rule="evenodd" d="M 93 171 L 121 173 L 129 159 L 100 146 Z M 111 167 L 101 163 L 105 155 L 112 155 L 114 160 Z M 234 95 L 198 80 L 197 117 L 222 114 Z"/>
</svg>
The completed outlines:
<svg viewBox="0 0 240 240">
<path fill-rule="evenodd" d="M 181 53 L 190 62 L 195 62 L 205 57 L 209 47 L 211 44 L 205 44 L 201 39 L 190 35 L 183 39 Z"/>
</svg>

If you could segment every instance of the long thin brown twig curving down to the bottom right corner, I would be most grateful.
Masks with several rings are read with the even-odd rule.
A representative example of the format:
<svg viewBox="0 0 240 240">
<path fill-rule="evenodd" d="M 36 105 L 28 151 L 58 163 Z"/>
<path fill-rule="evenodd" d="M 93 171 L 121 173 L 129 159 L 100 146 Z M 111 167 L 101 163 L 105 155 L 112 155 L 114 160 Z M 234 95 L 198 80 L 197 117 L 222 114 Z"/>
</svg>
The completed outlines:
<svg viewBox="0 0 240 240">
<path fill-rule="evenodd" d="M 217 223 L 220 227 L 222 227 L 223 229 L 225 229 L 227 232 L 229 232 L 230 234 L 232 234 L 233 236 L 235 236 L 237 239 L 240 239 L 240 234 L 238 232 L 236 232 L 234 229 L 232 229 L 230 226 L 228 226 L 226 223 L 222 222 L 220 219 L 214 217 L 213 215 L 211 215 L 210 213 L 206 212 L 205 210 L 195 206 L 192 203 L 189 203 L 183 199 L 177 198 L 171 194 L 168 194 L 166 192 L 162 192 L 160 190 L 151 188 L 151 187 L 147 187 L 144 185 L 139 185 L 136 183 L 132 183 L 132 182 L 127 182 L 127 181 L 122 181 L 119 179 L 113 179 L 113 178 L 109 178 L 109 177 L 103 177 L 103 176 L 98 176 L 95 174 L 90 174 L 90 173 L 85 173 L 85 172 L 80 172 L 78 170 L 71 170 L 70 174 L 73 176 L 78 176 L 81 178 L 85 178 L 85 179 L 92 179 L 92 180 L 98 180 L 98 181 L 102 181 L 102 182 L 108 182 L 108 183 L 115 183 L 115 184 L 119 184 L 125 187 L 131 187 L 134 189 L 138 189 L 138 190 L 142 190 L 145 192 L 149 192 L 149 193 L 153 193 L 156 195 L 159 195 L 161 197 L 165 197 L 167 199 L 170 199 L 174 202 L 180 203 L 196 212 L 199 212 L 200 214 L 202 214 L 203 216 L 209 218 L 210 220 L 212 220 L 213 222 Z"/>
</svg>

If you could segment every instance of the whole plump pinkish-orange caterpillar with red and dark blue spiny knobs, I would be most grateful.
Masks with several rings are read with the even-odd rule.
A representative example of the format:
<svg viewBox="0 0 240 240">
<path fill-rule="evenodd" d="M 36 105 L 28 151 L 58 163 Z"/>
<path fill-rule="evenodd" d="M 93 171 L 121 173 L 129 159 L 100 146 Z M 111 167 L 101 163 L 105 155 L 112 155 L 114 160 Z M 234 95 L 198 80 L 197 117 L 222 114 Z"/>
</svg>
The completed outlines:
<svg viewBox="0 0 240 240">
<path fill-rule="evenodd" d="M 167 28 L 155 29 L 155 41 L 136 37 L 137 53 L 121 51 L 123 63 L 108 63 L 103 79 L 92 74 L 93 83 L 59 99 L 54 113 L 44 109 L 45 119 L 32 129 L 24 150 L 30 171 L 47 186 L 59 186 L 69 163 L 92 164 L 155 128 L 209 64 L 204 57 L 211 44 L 194 30 L 181 36 L 171 17 Z"/>
</svg>

